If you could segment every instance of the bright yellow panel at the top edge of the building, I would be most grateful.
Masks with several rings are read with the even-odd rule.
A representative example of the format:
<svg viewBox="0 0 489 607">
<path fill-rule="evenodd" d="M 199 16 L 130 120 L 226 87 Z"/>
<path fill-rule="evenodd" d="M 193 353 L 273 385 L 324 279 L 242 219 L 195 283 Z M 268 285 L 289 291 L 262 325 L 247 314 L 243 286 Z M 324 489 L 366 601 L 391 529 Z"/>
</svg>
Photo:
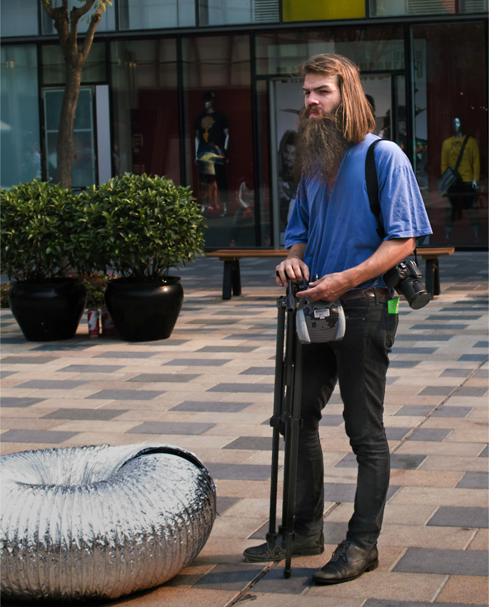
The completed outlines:
<svg viewBox="0 0 489 607">
<path fill-rule="evenodd" d="M 365 0 L 282 0 L 283 21 L 361 19 Z"/>
</svg>

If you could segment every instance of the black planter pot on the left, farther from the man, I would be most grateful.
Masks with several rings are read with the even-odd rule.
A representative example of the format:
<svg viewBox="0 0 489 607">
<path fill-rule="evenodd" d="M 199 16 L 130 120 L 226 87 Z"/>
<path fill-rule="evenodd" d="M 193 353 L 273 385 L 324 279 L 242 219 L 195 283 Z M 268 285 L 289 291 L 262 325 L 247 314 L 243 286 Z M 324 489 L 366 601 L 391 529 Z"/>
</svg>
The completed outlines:
<svg viewBox="0 0 489 607">
<path fill-rule="evenodd" d="M 75 336 L 86 305 L 80 279 L 46 284 L 13 282 L 9 304 L 27 341 L 58 341 Z"/>
</svg>

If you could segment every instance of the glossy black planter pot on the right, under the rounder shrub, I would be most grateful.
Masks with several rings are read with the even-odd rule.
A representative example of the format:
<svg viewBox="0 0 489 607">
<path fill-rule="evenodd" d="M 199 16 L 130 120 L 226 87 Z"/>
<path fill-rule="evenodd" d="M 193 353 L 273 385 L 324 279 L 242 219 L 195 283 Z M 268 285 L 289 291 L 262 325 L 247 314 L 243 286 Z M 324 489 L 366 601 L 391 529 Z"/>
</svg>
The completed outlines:
<svg viewBox="0 0 489 607">
<path fill-rule="evenodd" d="M 178 276 L 160 282 L 108 281 L 105 301 L 117 332 L 126 341 L 155 341 L 171 335 L 183 303 Z"/>
</svg>

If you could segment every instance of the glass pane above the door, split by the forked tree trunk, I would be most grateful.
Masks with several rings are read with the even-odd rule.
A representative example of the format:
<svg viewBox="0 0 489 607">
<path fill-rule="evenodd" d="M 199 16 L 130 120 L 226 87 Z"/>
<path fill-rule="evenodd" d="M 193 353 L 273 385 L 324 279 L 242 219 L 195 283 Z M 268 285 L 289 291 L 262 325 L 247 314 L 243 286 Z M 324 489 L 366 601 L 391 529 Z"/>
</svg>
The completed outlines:
<svg viewBox="0 0 489 607">
<path fill-rule="evenodd" d="M 42 46 L 42 79 L 44 85 L 59 85 L 66 81 L 66 64 L 61 46 L 46 44 Z M 82 82 L 104 82 L 107 79 L 106 52 L 104 42 L 94 41 L 89 56 L 81 71 Z"/>
</svg>

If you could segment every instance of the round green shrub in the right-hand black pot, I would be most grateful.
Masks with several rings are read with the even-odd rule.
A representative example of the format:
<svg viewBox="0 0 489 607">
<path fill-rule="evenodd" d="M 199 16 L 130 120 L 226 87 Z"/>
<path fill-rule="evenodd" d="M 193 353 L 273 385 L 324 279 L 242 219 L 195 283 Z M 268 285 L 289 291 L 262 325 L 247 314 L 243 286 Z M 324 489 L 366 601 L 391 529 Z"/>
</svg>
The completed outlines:
<svg viewBox="0 0 489 607">
<path fill-rule="evenodd" d="M 96 269 L 158 280 L 203 253 L 204 219 L 189 188 L 166 177 L 126 174 L 79 194 L 80 249 Z M 86 265 L 86 264 L 85 264 Z"/>
</svg>

